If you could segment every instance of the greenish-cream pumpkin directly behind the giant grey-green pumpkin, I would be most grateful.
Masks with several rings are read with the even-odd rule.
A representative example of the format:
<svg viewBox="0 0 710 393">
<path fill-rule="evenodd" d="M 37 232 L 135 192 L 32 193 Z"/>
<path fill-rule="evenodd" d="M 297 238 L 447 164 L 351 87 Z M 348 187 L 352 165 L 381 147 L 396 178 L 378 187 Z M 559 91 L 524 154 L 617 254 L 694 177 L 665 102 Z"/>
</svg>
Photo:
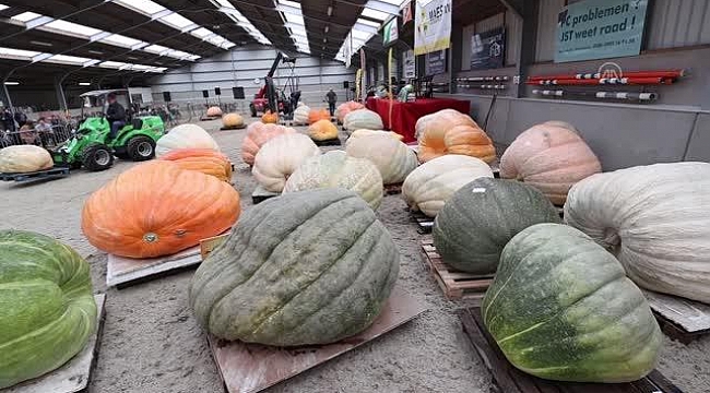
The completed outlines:
<svg viewBox="0 0 710 393">
<path fill-rule="evenodd" d="M 319 188 L 354 191 L 374 210 L 382 200 L 382 176 L 377 167 L 368 159 L 350 157 L 343 151 L 330 151 L 306 159 L 291 175 L 283 192 Z"/>
</svg>

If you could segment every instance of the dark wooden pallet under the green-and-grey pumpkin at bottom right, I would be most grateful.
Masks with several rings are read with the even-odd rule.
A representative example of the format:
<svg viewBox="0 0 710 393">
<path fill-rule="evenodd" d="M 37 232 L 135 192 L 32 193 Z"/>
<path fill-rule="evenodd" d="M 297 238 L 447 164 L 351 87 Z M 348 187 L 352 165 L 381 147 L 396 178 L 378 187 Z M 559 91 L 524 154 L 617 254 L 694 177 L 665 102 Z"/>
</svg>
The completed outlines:
<svg viewBox="0 0 710 393">
<path fill-rule="evenodd" d="M 575 383 L 543 380 L 514 368 L 486 331 L 481 308 L 459 311 L 463 331 L 493 376 L 498 393 L 683 393 L 658 370 L 628 383 Z"/>
</svg>

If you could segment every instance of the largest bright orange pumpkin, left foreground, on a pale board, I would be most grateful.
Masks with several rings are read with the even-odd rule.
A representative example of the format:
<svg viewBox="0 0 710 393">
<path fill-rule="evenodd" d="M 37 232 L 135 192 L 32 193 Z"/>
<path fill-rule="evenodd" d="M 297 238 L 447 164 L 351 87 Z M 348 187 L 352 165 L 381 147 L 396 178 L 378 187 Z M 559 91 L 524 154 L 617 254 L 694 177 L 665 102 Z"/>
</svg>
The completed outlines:
<svg viewBox="0 0 710 393">
<path fill-rule="evenodd" d="M 213 176 L 153 160 L 118 175 L 82 211 L 96 248 L 128 258 L 167 255 L 218 235 L 239 217 L 239 193 Z"/>
</svg>

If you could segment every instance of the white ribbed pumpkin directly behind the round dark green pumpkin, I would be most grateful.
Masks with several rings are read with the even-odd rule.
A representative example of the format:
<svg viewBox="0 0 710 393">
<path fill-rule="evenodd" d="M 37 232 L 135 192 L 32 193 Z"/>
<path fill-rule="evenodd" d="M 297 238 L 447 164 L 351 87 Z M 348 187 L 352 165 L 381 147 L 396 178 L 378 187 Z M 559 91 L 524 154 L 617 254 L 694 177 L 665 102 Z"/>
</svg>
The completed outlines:
<svg viewBox="0 0 710 393">
<path fill-rule="evenodd" d="M 414 169 L 402 184 L 402 195 L 412 210 L 435 217 L 454 192 L 480 177 L 493 178 L 484 160 L 448 154 Z"/>
</svg>

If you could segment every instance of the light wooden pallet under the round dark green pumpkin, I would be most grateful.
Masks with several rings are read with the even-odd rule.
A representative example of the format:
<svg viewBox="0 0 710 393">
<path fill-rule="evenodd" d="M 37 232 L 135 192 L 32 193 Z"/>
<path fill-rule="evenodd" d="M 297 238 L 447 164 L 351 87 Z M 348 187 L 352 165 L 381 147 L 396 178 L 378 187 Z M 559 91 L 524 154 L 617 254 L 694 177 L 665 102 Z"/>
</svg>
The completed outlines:
<svg viewBox="0 0 710 393">
<path fill-rule="evenodd" d="M 431 236 L 422 237 L 419 243 L 426 261 L 426 269 L 431 272 L 447 299 L 483 298 L 493 282 L 493 275 L 464 273 L 447 265 L 436 252 Z"/>
</svg>

